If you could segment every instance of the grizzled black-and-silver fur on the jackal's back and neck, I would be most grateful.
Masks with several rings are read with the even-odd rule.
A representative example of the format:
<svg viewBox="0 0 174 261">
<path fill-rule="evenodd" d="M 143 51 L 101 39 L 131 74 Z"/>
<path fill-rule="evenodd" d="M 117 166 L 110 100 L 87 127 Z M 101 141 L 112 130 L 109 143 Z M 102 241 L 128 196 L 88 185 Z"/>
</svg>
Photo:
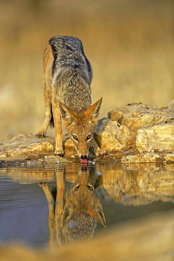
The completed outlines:
<svg viewBox="0 0 174 261">
<path fill-rule="evenodd" d="M 71 36 L 55 36 L 49 44 L 54 55 L 54 93 L 75 112 L 85 111 L 91 105 L 92 68 L 84 54 L 82 42 Z"/>
</svg>

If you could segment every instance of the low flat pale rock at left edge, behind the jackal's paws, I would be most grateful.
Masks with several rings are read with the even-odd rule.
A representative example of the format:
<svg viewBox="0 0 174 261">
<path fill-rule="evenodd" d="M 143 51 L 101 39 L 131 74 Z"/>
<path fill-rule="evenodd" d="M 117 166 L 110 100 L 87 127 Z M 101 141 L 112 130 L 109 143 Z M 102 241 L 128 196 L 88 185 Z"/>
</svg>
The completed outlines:
<svg viewBox="0 0 174 261">
<path fill-rule="evenodd" d="M 11 140 L 3 141 L 0 145 L 0 158 L 21 158 L 31 153 L 50 151 L 55 148 L 55 139 L 45 137 L 38 139 L 32 134 L 19 134 Z"/>
</svg>

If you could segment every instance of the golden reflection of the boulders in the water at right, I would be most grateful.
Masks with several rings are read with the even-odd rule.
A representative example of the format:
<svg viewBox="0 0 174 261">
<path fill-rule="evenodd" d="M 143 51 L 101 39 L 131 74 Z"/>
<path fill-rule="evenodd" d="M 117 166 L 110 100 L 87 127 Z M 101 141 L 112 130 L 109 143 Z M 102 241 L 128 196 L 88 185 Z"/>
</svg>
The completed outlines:
<svg viewBox="0 0 174 261">
<path fill-rule="evenodd" d="M 99 168 L 102 182 L 98 190 L 106 200 L 123 205 L 141 206 L 153 201 L 174 203 L 174 166 L 122 164 L 122 169 Z"/>
</svg>

